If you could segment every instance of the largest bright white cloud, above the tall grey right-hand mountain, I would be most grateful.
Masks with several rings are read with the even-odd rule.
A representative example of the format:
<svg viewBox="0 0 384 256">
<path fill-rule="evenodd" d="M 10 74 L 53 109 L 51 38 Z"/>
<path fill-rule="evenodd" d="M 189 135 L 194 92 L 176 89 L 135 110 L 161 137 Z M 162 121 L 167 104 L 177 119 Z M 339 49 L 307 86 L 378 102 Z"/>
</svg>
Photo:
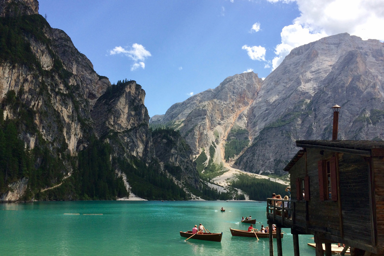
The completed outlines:
<svg viewBox="0 0 384 256">
<path fill-rule="evenodd" d="M 276 68 L 290 50 L 321 37 L 347 32 L 366 40 L 384 40 L 384 4 L 382 0 L 268 0 L 297 3 L 300 16 L 281 31 L 281 43 L 275 48 L 272 68 Z"/>
</svg>

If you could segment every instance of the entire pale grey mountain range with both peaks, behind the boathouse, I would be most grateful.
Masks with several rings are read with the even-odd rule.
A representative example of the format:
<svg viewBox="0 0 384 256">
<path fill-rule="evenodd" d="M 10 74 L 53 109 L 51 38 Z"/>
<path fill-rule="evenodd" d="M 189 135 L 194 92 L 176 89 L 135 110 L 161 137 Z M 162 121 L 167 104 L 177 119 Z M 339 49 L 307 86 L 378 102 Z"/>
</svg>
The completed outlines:
<svg viewBox="0 0 384 256">
<path fill-rule="evenodd" d="M 334 104 L 342 107 L 339 139 L 383 139 L 383 73 L 383 43 L 337 34 L 294 48 L 263 81 L 230 76 L 150 123 L 180 129 L 196 155 L 215 145 L 217 163 L 282 173 L 296 139 L 331 139 Z"/>
</svg>

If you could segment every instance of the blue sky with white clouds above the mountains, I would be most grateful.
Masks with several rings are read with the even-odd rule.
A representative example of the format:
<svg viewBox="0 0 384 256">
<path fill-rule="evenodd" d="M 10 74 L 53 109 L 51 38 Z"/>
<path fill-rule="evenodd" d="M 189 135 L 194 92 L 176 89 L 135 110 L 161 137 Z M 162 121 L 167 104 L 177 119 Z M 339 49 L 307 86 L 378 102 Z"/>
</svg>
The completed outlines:
<svg viewBox="0 0 384 256">
<path fill-rule="evenodd" d="M 383 0 L 39 0 L 39 13 L 99 75 L 140 84 L 149 116 L 227 76 L 266 77 L 323 36 L 384 40 Z"/>
</svg>

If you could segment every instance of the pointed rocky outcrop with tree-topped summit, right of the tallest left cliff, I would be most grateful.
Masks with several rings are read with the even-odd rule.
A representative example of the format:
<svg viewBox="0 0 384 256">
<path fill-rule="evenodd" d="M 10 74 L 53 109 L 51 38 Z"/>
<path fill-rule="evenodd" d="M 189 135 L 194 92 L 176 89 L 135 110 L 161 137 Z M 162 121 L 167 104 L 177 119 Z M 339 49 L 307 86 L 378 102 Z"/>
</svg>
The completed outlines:
<svg viewBox="0 0 384 256">
<path fill-rule="evenodd" d="M 135 81 L 112 85 L 97 99 L 91 117 L 99 137 L 108 137 L 109 143 L 122 146 L 121 152 L 150 159 L 153 149 L 144 97 L 144 90 Z M 118 142 L 110 138 L 116 136 Z"/>
</svg>

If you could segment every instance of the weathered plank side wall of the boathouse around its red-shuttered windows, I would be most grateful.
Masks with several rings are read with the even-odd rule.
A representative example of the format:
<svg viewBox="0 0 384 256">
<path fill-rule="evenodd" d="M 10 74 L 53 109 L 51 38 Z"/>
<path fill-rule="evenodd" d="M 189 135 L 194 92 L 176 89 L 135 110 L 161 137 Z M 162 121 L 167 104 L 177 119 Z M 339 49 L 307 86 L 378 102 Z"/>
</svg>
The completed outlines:
<svg viewBox="0 0 384 256">
<path fill-rule="evenodd" d="M 306 155 L 305 155 L 306 154 Z M 289 170 L 291 182 L 291 197 L 296 199 L 296 178 L 305 176 L 305 165 L 309 176 L 308 221 L 306 221 L 305 201 L 298 201 L 295 208 L 296 225 L 307 228 L 310 233 L 320 231 L 340 236 L 340 216 L 338 201 L 319 199 L 319 181 L 317 161 L 327 160 L 334 152 L 320 149 L 306 148 L 305 153 Z M 305 162 L 306 157 L 306 162 Z M 371 221 L 368 191 L 368 163 L 357 155 L 338 153 L 341 218 L 345 238 L 371 244 Z M 382 162 L 384 167 L 384 162 Z M 384 173 L 381 174 L 381 200 L 383 214 L 381 215 L 382 241 L 384 241 Z M 305 191 L 306 192 L 306 191 Z M 379 193 L 379 191 L 377 191 Z"/>
</svg>

